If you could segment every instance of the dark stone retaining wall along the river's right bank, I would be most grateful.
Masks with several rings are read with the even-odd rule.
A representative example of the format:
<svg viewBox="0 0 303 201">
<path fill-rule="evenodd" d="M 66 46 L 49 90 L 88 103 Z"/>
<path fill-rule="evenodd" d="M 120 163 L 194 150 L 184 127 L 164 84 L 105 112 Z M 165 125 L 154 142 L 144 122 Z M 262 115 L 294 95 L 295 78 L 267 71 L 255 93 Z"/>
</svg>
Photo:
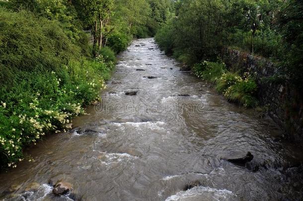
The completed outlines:
<svg viewBox="0 0 303 201">
<path fill-rule="evenodd" d="M 277 73 L 275 64 L 262 57 L 232 49 L 224 49 L 222 57 L 230 71 L 248 71 L 255 77 L 261 106 L 268 108 L 269 116 L 287 136 L 302 139 L 303 94 L 292 89 L 287 83 L 275 83 L 266 79 Z"/>
</svg>

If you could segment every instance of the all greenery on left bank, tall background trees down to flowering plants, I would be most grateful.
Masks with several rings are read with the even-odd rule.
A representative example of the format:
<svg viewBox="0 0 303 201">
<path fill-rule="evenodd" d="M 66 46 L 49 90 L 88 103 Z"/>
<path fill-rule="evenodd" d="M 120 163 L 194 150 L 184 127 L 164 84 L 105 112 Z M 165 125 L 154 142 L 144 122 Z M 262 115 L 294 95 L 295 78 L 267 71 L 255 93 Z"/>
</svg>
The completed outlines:
<svg viewBox="0 0 303 201">
<path fill-rule="evenodd" d="M 70 127 L 99 99 L 116 54 L 172 12 L 170 0 L 0 1 L 0 165 Z"/>
</svg>

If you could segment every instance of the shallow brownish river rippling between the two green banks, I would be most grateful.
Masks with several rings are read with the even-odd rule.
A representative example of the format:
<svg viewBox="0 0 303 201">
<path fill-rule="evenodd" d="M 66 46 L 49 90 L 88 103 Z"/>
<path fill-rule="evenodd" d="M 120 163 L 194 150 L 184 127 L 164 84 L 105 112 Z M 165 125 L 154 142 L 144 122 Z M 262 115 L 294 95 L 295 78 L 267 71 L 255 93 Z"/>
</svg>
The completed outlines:
<svg viewBox="0 0 303 201">
<path fill-rule="evenodd" d="M 127 89 L 138 94 L 127 96 Z M 34 162 L 0 175 L 0 199 L 303 199 L 302 147 L 283 140 L 270 119 L 228 103 L 180 71 L 152 38 L 135 40 L 119 56 L 101 96 L 102 104 L 76 118 L 73 130 L 31 147 Z M 254 158 L 245 167 L 225 160 L 247 151 Z M 50 179 L 71 183 L 73 193 L 54 196 Z M 25 191 L 32 182 L 41 186 Z"/>
</svg>

